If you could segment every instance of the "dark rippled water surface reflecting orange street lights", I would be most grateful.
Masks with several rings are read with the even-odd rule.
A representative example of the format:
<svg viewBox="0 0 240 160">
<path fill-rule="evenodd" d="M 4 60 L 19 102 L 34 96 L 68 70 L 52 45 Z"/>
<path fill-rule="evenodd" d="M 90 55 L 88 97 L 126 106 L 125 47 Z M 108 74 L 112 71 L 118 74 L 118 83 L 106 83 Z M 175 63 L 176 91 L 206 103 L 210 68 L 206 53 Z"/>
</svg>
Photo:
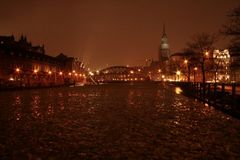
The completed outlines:
<svg viewBox="0 0 240 160">
<path fill-rule="evenodd" d="M 0 92 L 0 159 L 240 159 L 240 120 L 153 83 Z"/>
</svg>

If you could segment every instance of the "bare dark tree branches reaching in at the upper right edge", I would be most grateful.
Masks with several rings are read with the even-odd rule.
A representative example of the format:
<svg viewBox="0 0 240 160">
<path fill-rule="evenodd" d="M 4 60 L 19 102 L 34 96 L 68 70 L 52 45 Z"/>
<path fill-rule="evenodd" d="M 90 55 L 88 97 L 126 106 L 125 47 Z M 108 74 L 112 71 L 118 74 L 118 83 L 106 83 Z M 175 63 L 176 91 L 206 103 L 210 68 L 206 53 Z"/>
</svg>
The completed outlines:
<svg viewBox="0 0 240 160">
<path fill-rule="evenodd" d="M 240 5 L 228 13 L 228 22 L 223 25 L 221 33 L 231 38 L 229 49 L 232 52 L 240 51 Z"/>
</svg>

